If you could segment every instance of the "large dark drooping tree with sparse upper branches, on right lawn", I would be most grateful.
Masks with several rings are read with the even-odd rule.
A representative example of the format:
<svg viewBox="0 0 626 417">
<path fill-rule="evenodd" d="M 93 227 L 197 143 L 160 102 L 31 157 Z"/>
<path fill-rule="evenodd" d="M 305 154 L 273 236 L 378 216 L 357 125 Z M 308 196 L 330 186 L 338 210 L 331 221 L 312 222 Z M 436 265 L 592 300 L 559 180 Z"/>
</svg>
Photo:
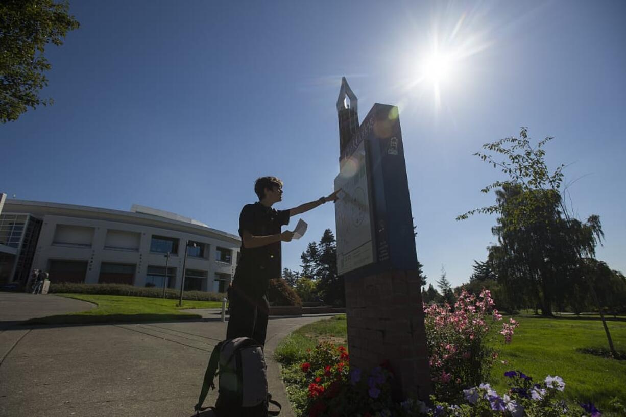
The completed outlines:
<svg viewBox="0 0 626 417">
<path fill-rule="evenodd" d="M 498 275 L 505 288 L 518 294 L 520 300 L 538 302 L 541 313 L 552 314 L 555 301 L 562 301 L 568 292 L 587 289 L 600 312 L 609 348 L 615 348 L 602 306 L 595 291 L 593 275 L 585 259 L 595 257 L 595 247 L 604 234 L 600 217 L 592 215 L 587 222 L 575 219 L 563 202 L 563 168 L 553 172 L 545 162 L 547 137 L 533 147 L 528 128 L 521 128 L 520 137 L 511 136 L 483 145 L 486 152 L 474 155 L 499 168 L 508 178 L 487 185 L 483 193 L 496 192 L 496 203 L 469 210 L 457 220 L 474 214 L 497 214 L 493 234 L 498 244 L 489 249 L 490 259 L 498 265 Z M 503 157 L 501 160 L 496 160 Z"/>
</svg>

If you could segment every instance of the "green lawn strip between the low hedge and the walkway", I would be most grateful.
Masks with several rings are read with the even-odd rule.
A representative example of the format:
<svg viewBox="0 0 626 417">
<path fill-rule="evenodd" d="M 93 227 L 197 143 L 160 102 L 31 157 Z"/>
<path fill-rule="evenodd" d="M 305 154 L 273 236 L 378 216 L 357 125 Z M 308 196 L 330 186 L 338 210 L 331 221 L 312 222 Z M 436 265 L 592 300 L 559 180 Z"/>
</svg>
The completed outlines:
<svg viewBox="0 0 626 417">
<path fill-rule="evenodd" d="M 178 300 L 173 299 L 96 294 L 54 295 L 93 302 L 97 307 L 89 311 L 31 319 L 27 321 L 28 324 L 88 324 L 198 319 L 200 318 L 198 314 L 182 312 L 180 309 L 222 307 L 221 301 L 183 300 L 183 307 L 178 307 Z"/>
</svg>

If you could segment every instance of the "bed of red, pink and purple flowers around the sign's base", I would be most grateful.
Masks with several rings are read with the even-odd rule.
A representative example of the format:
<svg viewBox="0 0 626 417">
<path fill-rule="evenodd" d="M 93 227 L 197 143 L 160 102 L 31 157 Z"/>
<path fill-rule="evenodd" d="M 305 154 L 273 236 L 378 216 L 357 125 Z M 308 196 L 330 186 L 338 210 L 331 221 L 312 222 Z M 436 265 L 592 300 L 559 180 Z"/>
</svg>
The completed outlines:
<svg viewBox="0 0 626 417">
<path fill-rule="evenodd" d="M 420 401 L 394 396 L 388 363 L 366 370 L 350 366 L 343 346 L 322 342 L 284 369 L 290 401 L 299 416 L 587 416 L 598 417 L 592 403 L 567 403 L 558 376 L 535 382 L 521 371 L 507 371 L 508 389 L 486 384 L 498 360 L 494 338 L 510 342 L 516 321 L 503 322 L 488 291 L 463 293 L 453 307 L 424 306 L 433 395 Z M 497 325 L 497 326 L 495 326 Z M 614 404 L 623 409 L 622 404 Z M 614 414 L 621 415 L 621 414 Z M 626 415 L 626 414 L 624 414 Z"/>
</svg>

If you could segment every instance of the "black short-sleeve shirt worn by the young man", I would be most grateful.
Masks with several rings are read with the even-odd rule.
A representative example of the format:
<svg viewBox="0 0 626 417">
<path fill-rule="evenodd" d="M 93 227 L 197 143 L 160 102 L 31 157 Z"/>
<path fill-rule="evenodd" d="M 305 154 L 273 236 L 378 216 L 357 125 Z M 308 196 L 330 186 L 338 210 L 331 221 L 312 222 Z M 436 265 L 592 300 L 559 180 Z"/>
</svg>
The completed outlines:
<svg viewBox="0 0 626 417">
<path fill-rule="evenodd" d="M 270 279 L 281 274 L 280 242 L 254 248 L 244 246 L 244 230 L 253 236 L 267 236 L 280 233 L 280 227 L 289 224 L 289 210 L 276 210 L 265 207 L 260 202 L 246 204 L 239 215 L 239 236 L 242 237 L 241 259 L 233 287 L 254 297 L 261 297 L 267 291 Z"/>
</svg>

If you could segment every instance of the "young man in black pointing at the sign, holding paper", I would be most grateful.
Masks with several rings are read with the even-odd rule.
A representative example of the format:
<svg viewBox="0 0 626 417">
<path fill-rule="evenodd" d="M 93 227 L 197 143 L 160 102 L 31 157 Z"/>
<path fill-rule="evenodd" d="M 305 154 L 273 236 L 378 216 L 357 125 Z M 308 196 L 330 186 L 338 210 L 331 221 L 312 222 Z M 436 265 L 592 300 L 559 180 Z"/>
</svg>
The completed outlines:
<svg viewBox="0 0 626 417">
<path fill-rule="evenodd" d="M 227 339 L 251 337 L 265 344 L 269 302 L 269 280 L 281 272 L 280 242 L 290 242 L 294 232 L 280 227 L 289 224 L 289 217 L 307 212 L 329 201 L 337 200 L 337 192 L 320 197 L 290 210 L 272 209 L 282 200 L 282 181 L 276 177 L 261 177 L 254 183 L 259 201 L 246 204 L 239 215 L 239 236 L 242 240 L 241 258 L 230 291 Z"/>
</svg>

